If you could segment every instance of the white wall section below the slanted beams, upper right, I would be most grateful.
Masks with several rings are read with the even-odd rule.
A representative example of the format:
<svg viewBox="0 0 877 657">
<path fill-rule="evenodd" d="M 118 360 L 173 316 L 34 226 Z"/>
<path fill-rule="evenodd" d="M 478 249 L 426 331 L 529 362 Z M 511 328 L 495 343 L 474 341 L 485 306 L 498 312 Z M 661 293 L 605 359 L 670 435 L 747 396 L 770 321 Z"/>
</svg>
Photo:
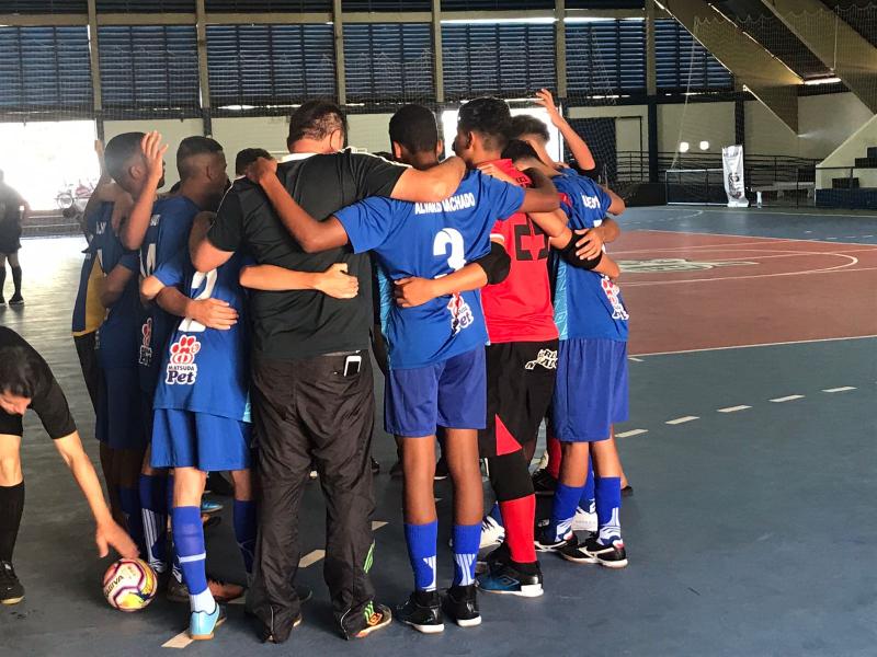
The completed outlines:
<svg viewBox="0 0 877 657">
<path fill-rule="evenodd" d="M 852 93 L 799 97 L 798 135 L 758 101 L 747 102 L 745 115 L 747 152 L 816 160 L 828 157 L 873 116 Z M 864 158 L 864 149 L 856 157 Z"/>
</svg>

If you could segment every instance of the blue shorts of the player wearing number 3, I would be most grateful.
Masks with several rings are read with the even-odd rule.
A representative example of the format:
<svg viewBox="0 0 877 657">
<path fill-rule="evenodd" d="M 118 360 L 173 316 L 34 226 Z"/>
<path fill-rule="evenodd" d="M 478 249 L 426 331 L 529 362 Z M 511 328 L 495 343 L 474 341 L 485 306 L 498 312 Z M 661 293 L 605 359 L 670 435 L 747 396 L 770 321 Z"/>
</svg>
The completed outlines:
<svg viewBox="0 0 877 657">
<path fill-rule="evenodd" d="M 384 428 L 420 438 L 448 429 L 483 429 L 487 419 L 485 347 L 415 369 L 390 369 Z"/>
</svg>

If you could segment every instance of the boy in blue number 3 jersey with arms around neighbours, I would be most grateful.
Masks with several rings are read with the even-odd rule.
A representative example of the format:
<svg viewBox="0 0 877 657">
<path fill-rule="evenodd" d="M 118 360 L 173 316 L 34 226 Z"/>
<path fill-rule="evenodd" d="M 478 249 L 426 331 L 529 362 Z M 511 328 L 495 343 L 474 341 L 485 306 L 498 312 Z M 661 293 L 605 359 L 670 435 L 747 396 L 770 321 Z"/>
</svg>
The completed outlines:
<svg viewBox="0 0 877 657">
<path fill-rule="evenodd" d="M 401 115 L 401 116 L 400 116 Z M 397 118 L 398 117 L 398 118 Z M 406 106 L 390 124 L 394 151 L 418 166 L 437 164 L 441 152 L 435 117 L 422 106 Z M 405 158 L 405 154 L 417 154 Z M 485 426 L 483 314 L 476 288 L 488 278 L 470 269 L 459 285 L 454 273 L 490 251 L 498 218 L 522 207 L 550 211 L 557 195 L 543 176 L 535 189 L 469 171 L 458 189 L 441 203 L 368 198 L 324 221 L 305 212 L 278 184 L 272 162 L 251 170 L 284 223 L 306 252 L 350 243 L 373 251 L 381 270 L 381 323 L 389 346 L 385 394 L 388 433 L 403 438 L 405 531 L 415 590 L 400 609 L 401 620 L 423 633 L 444 630 L 443 611 L 460 626 L 481 622 L 475 563 L 483 510 L 477 429 Z M 469 278 L 471 276 L 471 278 Z M 438 295 L 423 304 L 397 304 L 412 280 L 430 279 Z M 446 286 L 451 280 L 453 285 Z M 436 427 L 446 427 L 445 456 L 454 482 L 454 579 L 444 599 L 436 592 L 437 520 L 433 497 Z"/>
</svg>

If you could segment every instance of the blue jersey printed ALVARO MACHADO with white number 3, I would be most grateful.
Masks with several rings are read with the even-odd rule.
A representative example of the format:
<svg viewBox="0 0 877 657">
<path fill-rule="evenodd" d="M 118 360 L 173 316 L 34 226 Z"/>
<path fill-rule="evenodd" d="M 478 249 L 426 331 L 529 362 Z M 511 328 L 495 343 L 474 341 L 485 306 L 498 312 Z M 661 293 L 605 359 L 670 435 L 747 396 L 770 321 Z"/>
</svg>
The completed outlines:
<svg viewBox="0 0 877 657">
<path fill-rule="evenodd" d="M 487 342 L 478 291 L 399 308 L 392 281 L 407 276 L 440 278 L 486 255 L 493 223 L 514 214 L 523 200 L 523 188 L 470 171 L 454 195 L 441 203 L 375 197 L 335 214 L 353 250 L 377 255 L 381 324 L 391 368 L 425 367 Z"/>
</svg>

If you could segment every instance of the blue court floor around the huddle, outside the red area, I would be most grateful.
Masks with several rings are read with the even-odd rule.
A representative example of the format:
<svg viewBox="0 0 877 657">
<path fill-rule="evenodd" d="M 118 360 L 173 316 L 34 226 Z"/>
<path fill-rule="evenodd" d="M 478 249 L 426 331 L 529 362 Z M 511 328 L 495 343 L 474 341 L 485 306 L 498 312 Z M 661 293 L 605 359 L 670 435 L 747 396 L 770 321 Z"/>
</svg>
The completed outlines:
<svg viewBox="0 0 877 657">
<path fill-rule="evenodd" d="M 698 214 L 699 212 L 699 214 Z M 784 210 L 785 212 L 785 210 Z M 718 208 L 636 208 L 624 226 L 874 243 L 877 218 Z M 811 232 L 807 232 L 811 231 Z M 71 401 L 90 453 L 93 416 L 69 337 L 77 240 L 26 241 L 23 309 L 0 323 L 42 350 Z M 622 284 L 623 285 L 623 284 Z M 872 288 L 877 289 L 877 288 Z M 877 312 L 877 300 L 868 301 Z M 365 641 L 334 633 L 322 584 L 323 507 L 308 485 L 300 583 L 314 588 L 289 643 L 261 645 L 242 606 L 213 642 L 180 636 L 186 606 L 162 598 L 122 614 L 102 599 L 88 511 L 34 417 L 23 463 L 27 499 L 15 566 L 26 587 L 0 609 L 10 655 L 874 655 L 877 642 L 877 338 L 806 342 L 631 359 L 630 420 L 617 427 L 635 488 L 622 526 L 630 565 L 618 572 L 542 556 L 545 596 L 481 595 L 483 623 L 423 636 L 400 624 Z M 378 410 L 383 382 L 376 380 Z M 373 575 L 395 607 L 411 588 L 401 482 L 377 431 Z M 538 452 L 537 452 L 538 453 Z M 438 482 L 440 587 L 449 584 L 451 485 Z M 207 534 L 208 570 L 242 580 L 230 500 Z M 547 500 L 539 510 L 547 512 Z M 176 637 L 176 638 L 175 638 Z M 162 647 L 180 646 L 180 647 Z"/>
</svg>

